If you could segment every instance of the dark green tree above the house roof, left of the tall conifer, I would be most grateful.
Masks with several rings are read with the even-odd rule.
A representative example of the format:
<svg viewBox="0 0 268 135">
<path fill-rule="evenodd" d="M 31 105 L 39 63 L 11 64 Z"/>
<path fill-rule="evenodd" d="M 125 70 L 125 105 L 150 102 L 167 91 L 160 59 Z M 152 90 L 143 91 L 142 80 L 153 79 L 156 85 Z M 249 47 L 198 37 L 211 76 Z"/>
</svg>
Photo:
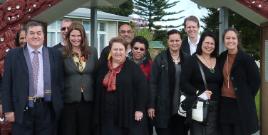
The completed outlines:
<svg viewBox="0 0 268 135">
<path fill-rule="evenodd" d="M 127 0 L 125 3 L 121 4 L 118 8 L 117 7 L 100 7 L 99 10 L 121 15 L 121 16 L 129 16 L 133 13 L 133 2 L 132 0 Z"/>
</svg>

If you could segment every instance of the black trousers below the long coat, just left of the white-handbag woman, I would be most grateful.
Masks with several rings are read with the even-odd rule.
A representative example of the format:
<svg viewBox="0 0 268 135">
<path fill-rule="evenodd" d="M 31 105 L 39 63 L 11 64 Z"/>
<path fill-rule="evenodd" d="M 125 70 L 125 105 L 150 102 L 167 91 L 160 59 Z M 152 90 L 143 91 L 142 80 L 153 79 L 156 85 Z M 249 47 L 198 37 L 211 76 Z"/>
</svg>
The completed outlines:
<svg viewBox="0 0 268 135">
<path fill-rule="evenodd" d="M 189 127 L 185 122 L 186 118 L 178 114 L 169 119 L 168 128 L 156 128 L 157 135 L 188 135 Z"/>
</svg>

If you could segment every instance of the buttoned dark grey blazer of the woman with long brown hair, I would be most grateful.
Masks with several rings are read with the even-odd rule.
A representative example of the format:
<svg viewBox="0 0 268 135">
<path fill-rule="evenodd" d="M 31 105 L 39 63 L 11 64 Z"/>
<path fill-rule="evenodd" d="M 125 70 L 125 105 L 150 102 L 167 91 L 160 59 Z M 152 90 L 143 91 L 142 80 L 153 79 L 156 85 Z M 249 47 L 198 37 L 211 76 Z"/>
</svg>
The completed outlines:
<svg viewBox="0 0 268 135">
<path fill-rule="evenodd" d="M 73 57 L 64 58 L 64 102 L 80 102 L 81 88 L 85 101 L 93 101 L 94 71 L 98 59 L 97 50 L 90 48 L 90 55 L 86 61 L 85 69 L 80 72 L 75 65 Z"/>
</svg>

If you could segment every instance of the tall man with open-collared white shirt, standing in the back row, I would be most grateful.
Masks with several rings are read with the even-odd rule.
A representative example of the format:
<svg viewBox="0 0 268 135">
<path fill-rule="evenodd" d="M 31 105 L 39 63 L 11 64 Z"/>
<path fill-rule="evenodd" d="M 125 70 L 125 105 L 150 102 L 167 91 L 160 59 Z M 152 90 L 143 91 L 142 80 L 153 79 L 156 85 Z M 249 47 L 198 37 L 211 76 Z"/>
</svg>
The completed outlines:
<svg viewBox="0 0 268 135">
<path fill-rule="evenodd" d="M 188 55 L 193 55 L 199 42 L 199 21 L 195 16 L 189 16 L 184 19 L 184 31 L 187 38 L 182 41 L 181 49 Z"/>
</svg>

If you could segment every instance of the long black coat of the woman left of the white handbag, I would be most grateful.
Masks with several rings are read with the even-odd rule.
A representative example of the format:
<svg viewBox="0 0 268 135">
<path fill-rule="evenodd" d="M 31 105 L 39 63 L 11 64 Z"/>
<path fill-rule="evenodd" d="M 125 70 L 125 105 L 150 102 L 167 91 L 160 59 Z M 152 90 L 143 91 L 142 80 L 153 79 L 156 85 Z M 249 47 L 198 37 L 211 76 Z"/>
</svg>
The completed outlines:
<svg viewBox="0 0 268 135">
<path fill-rule="evenodd" d="M 155 126 L 157 128 L 167 128 L 169 119 L 172 116 L 171 109 L 174 90 L 170 90 L 170 74 L 169 70 L 169 60 L 168 60 L 168 49 L 162 51 L 156 56 L 152 64 L 151 69 L 151 79 L 150 79 L 150 101 L 149 108 L 155 108 Z M 183 60 L 185 57 L 189 57 L 182 53 L 181 60 L 183 65 Z M 172 62 L 173 63 L 173 62 Z M 178 97 L 179 98 L 179 97 Z"/>
</svg>

